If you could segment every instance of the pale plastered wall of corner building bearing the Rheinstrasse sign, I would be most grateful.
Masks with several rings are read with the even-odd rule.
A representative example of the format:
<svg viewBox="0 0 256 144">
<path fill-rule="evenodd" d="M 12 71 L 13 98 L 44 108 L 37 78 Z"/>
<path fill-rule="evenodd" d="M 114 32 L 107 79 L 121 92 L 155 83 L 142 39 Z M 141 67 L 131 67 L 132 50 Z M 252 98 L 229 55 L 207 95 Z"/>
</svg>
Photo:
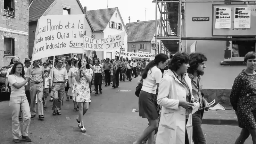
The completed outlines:
<svg viewBox="0 0 256 144">
<path fill-rule="evenodd" d="M 187 0 L 192 1 L 192 0 Z M 186 3 L 185 4 L 185 36 L 186 37 L 212 37 L 212 5 L 222 3 Z M 192 22 L 192 17 L 210 17 L 209 21 Z M 182 25 L 184 26 L 184 25 Z M 187 52 L 194 41 L 186 42 Z M 245 66 L 221 66 L 224 61 L 226 41 L 197 41 L 197 52 L 206 55 L 205 75 L 203 88 L 231 89 L 234 79 L 245 69 Z"/>
</svg>

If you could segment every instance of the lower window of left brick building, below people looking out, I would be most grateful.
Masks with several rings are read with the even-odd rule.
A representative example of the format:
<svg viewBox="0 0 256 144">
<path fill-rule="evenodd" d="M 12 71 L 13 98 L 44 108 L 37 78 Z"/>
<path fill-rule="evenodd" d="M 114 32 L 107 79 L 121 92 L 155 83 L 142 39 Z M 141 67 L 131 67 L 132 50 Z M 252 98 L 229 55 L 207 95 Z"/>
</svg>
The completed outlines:
<svg viewBox="0 0 256 144">
<path fill-rule="evenodd" d="M 14 38 L 3 38 L 4 56 L 14 56 Z"/>
</svg>

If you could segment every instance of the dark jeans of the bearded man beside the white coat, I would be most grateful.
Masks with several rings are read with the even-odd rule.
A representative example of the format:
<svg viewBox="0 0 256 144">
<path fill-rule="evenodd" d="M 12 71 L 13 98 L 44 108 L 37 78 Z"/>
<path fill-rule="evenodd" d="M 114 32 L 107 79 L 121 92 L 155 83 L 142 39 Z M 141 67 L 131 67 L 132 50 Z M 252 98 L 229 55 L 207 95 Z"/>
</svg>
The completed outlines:
<svg viewBox="0 0 256 144">
<path fill-rule="evenodd" d="M 198 110 L 192 115 L 193 142 L 194 144 L 206 144 L 206 139 L 201 128 L 204 110 Z"/>
</svg>

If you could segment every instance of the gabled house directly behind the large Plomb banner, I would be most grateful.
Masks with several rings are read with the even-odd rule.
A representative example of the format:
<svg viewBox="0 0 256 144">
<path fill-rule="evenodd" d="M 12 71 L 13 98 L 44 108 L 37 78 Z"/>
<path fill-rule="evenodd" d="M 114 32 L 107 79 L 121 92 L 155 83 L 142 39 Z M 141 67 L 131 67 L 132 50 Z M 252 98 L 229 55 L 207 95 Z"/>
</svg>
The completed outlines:
<svg viewBox="0 0 256 144">
<path fill-rule="evenodd" d="M 30 0 L 29 1 L 29 56 L 32 56 L 35 31 L 38 19 L 46 15 L 79 15 L 86 14 L 79 0 Z M 86 15 L 86 36 L 91 37 L 94 31 L 92 24 Z M 70 56 L 71 54 L 64 54 Z M 77 55 L 82 57 L 82 54 Z M 53 58 L 53 57 L 52 57 Z M 49 57 L 49 59 L 52 59 Z M 43 61 L 43 60 L 42 60 Z"/>
</svg>

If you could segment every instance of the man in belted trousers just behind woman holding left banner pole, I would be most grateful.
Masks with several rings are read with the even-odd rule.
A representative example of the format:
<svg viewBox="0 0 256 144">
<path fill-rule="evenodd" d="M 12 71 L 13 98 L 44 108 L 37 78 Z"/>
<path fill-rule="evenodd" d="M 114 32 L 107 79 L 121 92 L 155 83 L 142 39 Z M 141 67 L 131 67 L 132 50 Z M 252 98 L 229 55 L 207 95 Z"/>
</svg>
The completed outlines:
<svg viewBox="0 0 256 144">
<path fill-rule="evenodd" d="M 30 112 L 31 118 L 35 117 L 36 114 L 36 105 L 35 105 L 35 97 L 38 97 L 38 118 L 43 119 L 43 90 L 44 90 L 44 69 L 40 66 L 40 60 L 33 61 L 33 65 L 27 68 L 26 77 L 31 75 L 30 82 Z"/>
</svg>

